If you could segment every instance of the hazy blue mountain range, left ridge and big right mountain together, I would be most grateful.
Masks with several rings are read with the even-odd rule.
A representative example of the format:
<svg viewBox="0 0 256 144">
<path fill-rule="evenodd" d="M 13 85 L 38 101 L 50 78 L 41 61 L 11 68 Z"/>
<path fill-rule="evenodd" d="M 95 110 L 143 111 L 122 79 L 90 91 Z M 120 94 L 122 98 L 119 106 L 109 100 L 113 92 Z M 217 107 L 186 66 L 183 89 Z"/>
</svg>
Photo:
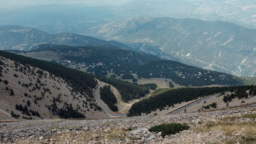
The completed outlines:
<svg viewBox="0 0 256 144">
<path fill-rule="evenodd" d="M 100 39 L 73 33 L 49 34 L 32 28 L 2 26 L 0 50 L 29 51 L 38 44 L 116 45 L 232 75 L 256 75 L 256 30 L 229 22 L 136 18 L 93 27 L 87 33 Z"/>
</svg>

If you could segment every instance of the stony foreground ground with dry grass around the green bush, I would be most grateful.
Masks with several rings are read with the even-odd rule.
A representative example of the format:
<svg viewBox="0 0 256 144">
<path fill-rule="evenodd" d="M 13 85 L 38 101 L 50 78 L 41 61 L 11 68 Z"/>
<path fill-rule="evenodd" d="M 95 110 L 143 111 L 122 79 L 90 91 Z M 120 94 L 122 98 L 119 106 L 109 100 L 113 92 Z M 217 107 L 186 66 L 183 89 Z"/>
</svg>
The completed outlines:
<svg viewBox="0 0 256 144">
<path fill-rule="evenodd" d="M 0 143 L 237 143 L 256 142 L 255 106 L 209 113 L 138 116 L 111 119 L 49 119 L 0 123 Z M 163 123 L 186 123 L 175 135 L 149 137 Z M 146 128 L 137 132 L 131 131 Z"/>
</svg>

